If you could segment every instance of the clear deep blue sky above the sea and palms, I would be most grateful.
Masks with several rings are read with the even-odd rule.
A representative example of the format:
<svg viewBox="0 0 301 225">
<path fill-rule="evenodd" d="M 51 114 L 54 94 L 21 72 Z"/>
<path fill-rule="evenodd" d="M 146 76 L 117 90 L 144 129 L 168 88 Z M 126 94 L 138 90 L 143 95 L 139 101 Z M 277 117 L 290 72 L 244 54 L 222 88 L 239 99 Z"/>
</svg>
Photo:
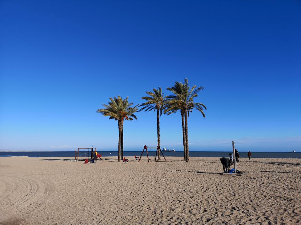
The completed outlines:
<svg viewBox="0 0 301 225">
<path fill-rule="evenodd" d="M 109 97 L 188 78 L 206 118 L 190 150 L 301 149 L 300 1 L 1 1 L 0 149 L 117 150 Z M 124 149 L 156 145 L 156 113 L 124 124 Z M 161 147 L 182 151 L 181 115 Z"/>
</svg>

